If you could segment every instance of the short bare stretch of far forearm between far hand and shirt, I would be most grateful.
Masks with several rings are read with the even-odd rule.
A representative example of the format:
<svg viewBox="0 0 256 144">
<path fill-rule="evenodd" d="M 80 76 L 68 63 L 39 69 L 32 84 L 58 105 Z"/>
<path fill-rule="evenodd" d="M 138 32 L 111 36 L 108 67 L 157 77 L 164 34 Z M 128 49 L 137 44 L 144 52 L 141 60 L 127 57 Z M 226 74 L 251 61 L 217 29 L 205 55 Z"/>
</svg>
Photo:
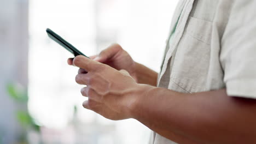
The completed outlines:
<svg viewBox="0 0 256 144">
<path fill-rule="evenodd" d="M 142 64 L 136 63 L 136 78 L 138 83 L 156 86 L 158 73 Z"/>
</svg>

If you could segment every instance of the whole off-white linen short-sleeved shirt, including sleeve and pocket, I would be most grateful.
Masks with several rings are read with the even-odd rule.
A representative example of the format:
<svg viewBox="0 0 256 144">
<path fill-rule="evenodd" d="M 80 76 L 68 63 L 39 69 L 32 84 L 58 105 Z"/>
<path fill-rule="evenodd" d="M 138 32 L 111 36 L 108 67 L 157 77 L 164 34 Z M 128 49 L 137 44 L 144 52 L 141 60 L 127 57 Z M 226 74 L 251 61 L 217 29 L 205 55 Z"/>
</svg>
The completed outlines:
<svg viewBox="0 0 256 144">
<path fill-rule="evenodd" d="M 158 86 L 182 93 L 226 88 L 230 97 L 256 99 L 255 8 L 255 0 L 180 0 Z M 154 133 L 150 143 L 175 142 Z"/>
</svg>

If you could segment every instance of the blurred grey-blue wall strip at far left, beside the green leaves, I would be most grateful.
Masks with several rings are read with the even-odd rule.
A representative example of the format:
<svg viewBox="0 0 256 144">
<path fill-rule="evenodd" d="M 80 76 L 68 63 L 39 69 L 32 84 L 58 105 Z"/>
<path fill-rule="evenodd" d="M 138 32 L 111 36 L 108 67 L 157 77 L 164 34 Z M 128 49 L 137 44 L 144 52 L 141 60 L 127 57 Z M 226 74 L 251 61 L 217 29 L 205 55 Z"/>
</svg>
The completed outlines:
<svg viewBox="0 0 256 144">
<path fill-rule="evenodd" d="M 27 0 L 0 1 L 0 137 L 2 137 L 2 143 L 15 143 L 21 130 L 15 116 L 18 106 L 9 98 L 6 85 L 8 82 L 19 82 L 27 87 L 27 22 Z"/>
</svg>

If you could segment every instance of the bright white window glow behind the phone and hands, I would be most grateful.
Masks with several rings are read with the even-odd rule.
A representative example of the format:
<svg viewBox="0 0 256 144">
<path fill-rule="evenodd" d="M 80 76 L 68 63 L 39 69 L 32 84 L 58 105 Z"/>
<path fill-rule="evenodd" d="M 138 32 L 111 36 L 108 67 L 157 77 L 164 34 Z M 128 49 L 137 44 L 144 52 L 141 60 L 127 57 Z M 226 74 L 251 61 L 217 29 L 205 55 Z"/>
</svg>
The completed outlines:
<svg viewBox="0 0 256 144">
<path fill-rule="evenodd" d="M 74 81 L 71 53 L 49 39 L 45 29 L 92 56 L 119 43 L 133 59 L 160 70 L 176 1 L 31 0 L 29 110 L 45 143 L 148 143 L 150 130 L 135 119 L 110 121 L 85 110 Z M 74 113 L 74 106 L 77 112 Z"/>
</svg>

